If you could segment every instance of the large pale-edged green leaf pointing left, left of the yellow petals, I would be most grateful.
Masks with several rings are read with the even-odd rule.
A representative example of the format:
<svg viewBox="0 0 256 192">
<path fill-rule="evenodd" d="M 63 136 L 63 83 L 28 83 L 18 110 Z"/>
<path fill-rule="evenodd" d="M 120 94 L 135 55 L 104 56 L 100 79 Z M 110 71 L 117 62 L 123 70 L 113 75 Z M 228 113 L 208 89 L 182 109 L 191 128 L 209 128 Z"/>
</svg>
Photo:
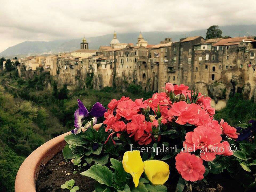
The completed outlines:
<svg viewBox="0 0 256 192">
<path fill-rule="evenodd" d="M 91 177 L 101 184 L 111 186 L 113 183 L 113 172 L 106 166 L 95 164 L 87 171 L 80 173 L 83 176 Z"/>
</svg>

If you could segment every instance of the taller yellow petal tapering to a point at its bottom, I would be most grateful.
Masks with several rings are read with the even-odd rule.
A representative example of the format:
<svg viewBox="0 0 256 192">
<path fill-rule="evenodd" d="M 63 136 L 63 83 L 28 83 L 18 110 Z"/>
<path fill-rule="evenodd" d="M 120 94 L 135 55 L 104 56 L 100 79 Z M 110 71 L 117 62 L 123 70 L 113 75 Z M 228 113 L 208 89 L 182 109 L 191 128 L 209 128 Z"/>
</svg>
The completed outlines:
<svg viewBox="0 0 256 192">
<path fill-rule="evenodd" d="M 126 151 L 123 155 L 123 169 L 133 177 L 135 187 L 139 185 L 139 178 L 144 172 L 144 164 L 140 151 Z"/>
</svg>

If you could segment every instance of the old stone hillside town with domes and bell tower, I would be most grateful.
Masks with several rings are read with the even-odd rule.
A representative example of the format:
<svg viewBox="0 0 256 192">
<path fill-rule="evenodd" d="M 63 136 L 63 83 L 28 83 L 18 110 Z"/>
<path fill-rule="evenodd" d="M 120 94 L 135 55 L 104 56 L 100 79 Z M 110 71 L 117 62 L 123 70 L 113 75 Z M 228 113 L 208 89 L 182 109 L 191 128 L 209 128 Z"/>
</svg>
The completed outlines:
<svg viewBox="0 0 256 192">
<path fill-rule="evenodd" d="M 93 77 L 94 89 L 125 89 L 127 84 L 135 83 L 145 91 L 162 91 L 166 82 L 186 84 L 207 94 L 211 90 L 217 101 L 234 89 L 243 91 L 247 98 L 256 97 L 255 52 L 254 37 L 196 36 L 178 42 L 165 38 L 150 45 L 140 33 L 134 45 L 120 43 L 114 33 L 109 46 L 91 50 L 84 37 L 79 50 L 20 58 L 17 69 L 20 77 L 38 69 L 49 71 L 58 86 L 67 85 L 69 89 L 85 87 L 88 75 Z"/>
</svg>

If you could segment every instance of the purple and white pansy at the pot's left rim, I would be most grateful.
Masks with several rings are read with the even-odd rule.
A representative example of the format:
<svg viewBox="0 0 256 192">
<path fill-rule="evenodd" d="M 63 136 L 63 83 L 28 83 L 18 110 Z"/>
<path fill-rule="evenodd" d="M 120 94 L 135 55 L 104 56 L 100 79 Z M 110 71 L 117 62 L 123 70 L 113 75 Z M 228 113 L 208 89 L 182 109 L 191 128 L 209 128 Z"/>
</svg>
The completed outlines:
<svg viewBox="0 0 256 192">
<path fill-rule="evenodd" d="M 93 122 L 93 125 L 97 123 L 97 118 L 102 117 L 104 113 L 106 112 L 105 107 L 101 105 L 101 103 L 95 103 L 93 107 L 91 108 L 90 112 L 86 109 L 86 107 L 83 105 L 83 103 L 77 99 L 78 101 L 78 109 L 75 110 L 74 116 L 75 116 L 75 129 L 71 131 L 71 133 L 78 134 L 81 132 L 82 128 L 89 128 L 91 127 L 91 121 Z M 83 123 L 85 125 L 83 126 Z"/>
</svg>

